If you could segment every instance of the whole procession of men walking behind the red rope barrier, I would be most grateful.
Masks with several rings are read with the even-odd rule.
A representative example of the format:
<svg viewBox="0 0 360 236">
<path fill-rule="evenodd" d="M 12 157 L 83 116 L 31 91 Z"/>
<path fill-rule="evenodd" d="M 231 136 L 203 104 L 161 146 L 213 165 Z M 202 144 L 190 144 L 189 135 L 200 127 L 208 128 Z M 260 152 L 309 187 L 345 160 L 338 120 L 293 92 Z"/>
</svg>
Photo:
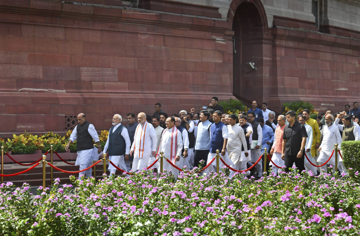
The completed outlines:
<svg viewBox="0 0 360 236">
<path fill-rule="evenodd" d="M 256 102 L 255 104 L 257 105 Z M 217 103 L 215 105 L 219 107 Z M 156 109 L 156 113 L 162 114 L 161 105 Z M 194 112 L 194 109 L 191 112 Z M 318 169 L 307 159 L 305 160 L 305 153 L 312 163 L 323 164 L 330 156 L 335 143 L 338 143 L 340 148 L 341 141 L 359 140 L 357 127 L 351 124 L 350 116 L 350 121 L 347 116 L 342 118 L 346 115 L 343 113 L 340 113 L 335 122 L 330 113 L 324 116 L 326 126 L 320 145 L 319 125 L 309 117 L 310 111 L 307 109 L 298 120 L 296 113 L 289 111 L 285 116 L 279 115 L 277 122 L 273 113 L 268 114 L 269 118 L 266 117 L 265 122 L 256 109 L 250 109 L 247 113 L 241 112 L 238 117 L 235 114 L 224 116 L 220 110 L 212 112 L 211 114 L 208 110 L 202 110 L 199 120 L 192 120 L 194 114 L 188 114 L 183 110 L 179 112 L 179 117 L 176 117 L 176 114 L 166 117 L 165 124 L 161 124 L 161 115 L 154 116 L 150 124 L 143 112 L 138 114 L 138 123 L 136 123 L 135 115 L 129 113 L 126 127 L 121 124 L 121 115 L 115 114 L 103 152 L 108 151 L 109 160 L 127 172 L 147 168 L 159 158 L 161 151 L 163 156 L 180 169 L 185 166 L 188 169 L 195 166 L 201 168 L 205 164 L 210 164 L 216 156 L 216 150 L 220 151 L 219 154 L 226 165 L 233 169 L 246 170 L 267 148 L 273 162 L 277 166 L 285 166 L 285 171 L 295 164 L 300 172 L 306 169 L 317 174 Z M 341 118 L 343 124 L 339 125 Z M 80 165 L 80 169 L 86 169 L 91 165 L 91 161 L 99 159 L 102 150 L 96 130 L 86 121 L 86 116 L 80 113 L 77 120 L 78 125 L 73 130 L 66 149 L 77 139 L 76 165 Z M 344 131 L 342 137 L 339 131 Z M 98 148 L 94 148 L 93 139 L 98 144 Z M 320 155 L 315 161 L 317 150 L 320 151 Z M 201 160 L 204 161 L 203 165 L 200 164 Z M 262 161 L 258 161 L 255 168 L 257 177 L 262 176 Z M 328 164 L 335 164 L 333 157 Z M 222 166 L 220 162 L 219 168 Z M 275 174 L 278 173 L 278 167 L 272 163 L 270 167 Z M 326 167 L 327 165 L 324 165 L 320 169 L 326 170 Z M 158 162 L 152 168 L 159 169 Z M 115 166 L 111 164 L 108 169 L 111 174 L 116 172 Z M 163 169 L 171 171 L 175 178 L 179 173 L 167 161 L 164 162 Z M 215 169 L 214 161 L 205 172 L 212 172 Z M 339 163 L 339 169 L 346 171 L 342 163 Z M 233 173 L 231 171 L 230 176 Z M 91 170 L 80 173 L 79 178 L 82 174 L 90 177 Z M 243 174 L 249 176 L 251 172 L 246 171 Z M 254 171 L 252 174 L 255 174 Z"/>
</svg>

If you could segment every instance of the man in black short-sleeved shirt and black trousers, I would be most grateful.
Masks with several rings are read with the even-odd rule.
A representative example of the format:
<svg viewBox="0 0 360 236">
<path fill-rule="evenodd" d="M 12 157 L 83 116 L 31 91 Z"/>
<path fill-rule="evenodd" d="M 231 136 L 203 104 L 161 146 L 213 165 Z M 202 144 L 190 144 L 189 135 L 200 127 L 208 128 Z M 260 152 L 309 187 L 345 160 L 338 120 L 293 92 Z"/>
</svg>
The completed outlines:
<svg viewBox="0 0 360 236">
<path fill-rule="evenodd" d="M 301 173 L 305 170 L 306 129 L 295 119 L 296 113 L 294 111 L 288 111 L 285 117 L 289 124 L 284 129 L 281 151 L 281 158 L 285 161 L 284 171 L 289 172 L 289 168 L 292 168 L 295 162 L 297 169 Z"/>
</svg>

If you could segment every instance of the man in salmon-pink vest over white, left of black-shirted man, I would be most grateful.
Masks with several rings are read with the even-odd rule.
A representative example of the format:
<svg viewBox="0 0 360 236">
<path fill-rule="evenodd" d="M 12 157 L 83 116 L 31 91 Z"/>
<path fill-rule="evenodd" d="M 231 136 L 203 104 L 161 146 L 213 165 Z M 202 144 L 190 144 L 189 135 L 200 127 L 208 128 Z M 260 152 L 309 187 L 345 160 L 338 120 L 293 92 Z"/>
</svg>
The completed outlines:
<svg viewBox="0 0 360 236">
<path fill-rule="evenodd" d="M 281 158 L 285 121 L 286 117 L 284 115 L 278 116 L 278 126 L 275 129 L 273 147 L 271 147 L 270 150 L 270 155 L 273 155 L 271 160 L 279 167 L 283 167 L 285 165 L 284 159 Z M 276 167 L 272 162 L 269 163 L 269 166 L 273 169 L 273 173 L 278 174 L 278 167 Z"/>
</svg>

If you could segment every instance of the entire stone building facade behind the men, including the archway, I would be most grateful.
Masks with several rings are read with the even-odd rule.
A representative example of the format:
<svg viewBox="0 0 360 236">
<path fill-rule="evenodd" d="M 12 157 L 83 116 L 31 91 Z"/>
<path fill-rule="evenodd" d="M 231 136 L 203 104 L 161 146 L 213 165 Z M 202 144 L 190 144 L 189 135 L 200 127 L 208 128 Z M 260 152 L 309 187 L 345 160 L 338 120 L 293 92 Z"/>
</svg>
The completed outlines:
<svg viewBox="0 0 360 236">
<path fill-rule="evenodd" d="M 214 95 L 339 111 L 359 63 L 357 0 L 0 0 L 0 137 Z"/>
</svg>

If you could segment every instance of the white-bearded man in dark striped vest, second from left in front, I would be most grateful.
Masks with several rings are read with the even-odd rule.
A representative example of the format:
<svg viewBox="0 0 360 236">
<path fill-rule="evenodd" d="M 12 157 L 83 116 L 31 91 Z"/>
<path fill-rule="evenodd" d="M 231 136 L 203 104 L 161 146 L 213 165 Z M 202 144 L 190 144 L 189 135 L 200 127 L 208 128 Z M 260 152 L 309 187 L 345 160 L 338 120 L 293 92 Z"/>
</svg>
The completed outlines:
<svg viewBox="0 0 360 236">
<path fill-rule="evenodd" d="M 122 117 L 115 114 L 112 119 L 113 126 L 109 130 L 108 140 L 106 141 L 104 152 L 109 151 L 109 160 L 118 168 L 126 170 L 125 161 L 129 160 L 130 138 L 125 126 L 121 124 Z M 109 163 L 110 175 L 116 172 L 115 166 Z"/>
</svg>

